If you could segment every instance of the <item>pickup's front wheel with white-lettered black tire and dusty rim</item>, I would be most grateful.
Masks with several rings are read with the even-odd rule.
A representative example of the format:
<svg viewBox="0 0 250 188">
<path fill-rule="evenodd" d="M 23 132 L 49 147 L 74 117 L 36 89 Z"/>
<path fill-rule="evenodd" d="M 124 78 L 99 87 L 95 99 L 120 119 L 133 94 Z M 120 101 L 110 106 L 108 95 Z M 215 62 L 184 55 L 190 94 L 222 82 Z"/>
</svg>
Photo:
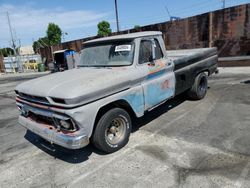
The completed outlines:
<svg viewBox="0 0 250 188">
<path fill-rule="evenodd" d="M 98 121 L 92 143 L 105 153 L 113 153 L 128 143 L 131 128 L 129 114 L 121 108 L 113 108 Z"/>
</svg>

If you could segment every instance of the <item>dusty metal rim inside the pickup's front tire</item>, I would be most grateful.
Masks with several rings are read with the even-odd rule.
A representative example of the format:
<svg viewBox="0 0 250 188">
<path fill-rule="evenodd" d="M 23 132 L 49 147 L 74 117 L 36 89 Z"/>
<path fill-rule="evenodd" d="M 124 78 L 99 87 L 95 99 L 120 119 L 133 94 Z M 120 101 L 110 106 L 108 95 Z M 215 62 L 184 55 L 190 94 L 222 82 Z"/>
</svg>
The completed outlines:
<svg viewBox="0 0 250 188">
<path fill-rule="evenodd" d="M 107 127 L 105 139 L 108 143 L 118 144 L 126 136 L 127 119 L 125 117 L 114 118 Z"/>
</svg>

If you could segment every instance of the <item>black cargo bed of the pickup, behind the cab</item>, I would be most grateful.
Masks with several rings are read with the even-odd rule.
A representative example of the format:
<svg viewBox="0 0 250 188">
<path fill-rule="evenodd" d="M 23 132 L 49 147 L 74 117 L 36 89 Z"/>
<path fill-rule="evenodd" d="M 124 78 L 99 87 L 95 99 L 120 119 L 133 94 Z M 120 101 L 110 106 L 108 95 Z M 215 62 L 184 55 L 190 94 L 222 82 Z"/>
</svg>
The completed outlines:
<svg viewBox="0 0 250 188">
<path fill-rule="evenodd" d="M 216 48 L 169 50 L 167 51 L 167 57 L 175 65 L 175 95 L 191 88 L 198 73 L 206 71 L 208 75 L 211 75 L 217 69 Z"/>
</svg>

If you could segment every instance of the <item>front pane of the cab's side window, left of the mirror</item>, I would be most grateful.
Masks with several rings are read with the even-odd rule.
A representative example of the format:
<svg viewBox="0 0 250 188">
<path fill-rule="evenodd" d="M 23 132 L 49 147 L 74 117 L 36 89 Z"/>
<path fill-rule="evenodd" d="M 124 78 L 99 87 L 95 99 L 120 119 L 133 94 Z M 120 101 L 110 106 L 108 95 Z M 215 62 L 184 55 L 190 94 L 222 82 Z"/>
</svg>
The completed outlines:
<svg viewBox="0 0 250 188">
<path fill-rule="evenodd" d="M 152 42 L 150 40 L 142 40 L 139 51 L 139 63 L 147 63 L 152 58 Z"/>
</svg>

